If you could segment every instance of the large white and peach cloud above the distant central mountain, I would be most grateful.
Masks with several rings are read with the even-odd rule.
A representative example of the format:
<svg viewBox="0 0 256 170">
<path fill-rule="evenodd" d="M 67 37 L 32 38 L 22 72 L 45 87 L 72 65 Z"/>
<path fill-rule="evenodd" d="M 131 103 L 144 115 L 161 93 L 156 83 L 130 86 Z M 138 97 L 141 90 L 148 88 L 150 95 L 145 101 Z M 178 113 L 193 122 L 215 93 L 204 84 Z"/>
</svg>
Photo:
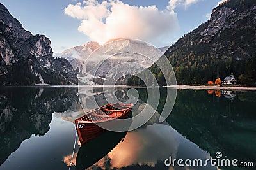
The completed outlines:
<svg viewBox="0 0 256 170">
<path fill-rule="evenodd" d="M 170 39 L 179 27 L 173 9 L 159 10 L 156 6 L 131 6 L 120 0 L 108 0 L 102 3 L 97 0 L 86 0 L 75 5 L 69 4 L 64 12 L 70 17 L 81 20 L 78 30 L 92 41 L 101 44 L 115 38 L 141 39 L 153 44 L 163 43 L 164 40 L 170 43 Z"/>
</svg>

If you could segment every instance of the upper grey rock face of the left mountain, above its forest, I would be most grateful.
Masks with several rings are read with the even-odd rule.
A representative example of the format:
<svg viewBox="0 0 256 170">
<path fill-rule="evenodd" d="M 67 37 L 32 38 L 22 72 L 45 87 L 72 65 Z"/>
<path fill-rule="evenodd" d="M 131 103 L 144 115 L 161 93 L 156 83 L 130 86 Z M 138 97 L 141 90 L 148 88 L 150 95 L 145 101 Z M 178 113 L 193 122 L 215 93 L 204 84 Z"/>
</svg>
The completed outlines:
<svg viewBox="0 0 256 170">
<path fill-rule="evenodd" d="M 20 22 L 0 4 L 0 55 L 7 65 L 19 59 L 52 55 L 51 41 L 44 35 L 26 31 Z"/>
</svg>

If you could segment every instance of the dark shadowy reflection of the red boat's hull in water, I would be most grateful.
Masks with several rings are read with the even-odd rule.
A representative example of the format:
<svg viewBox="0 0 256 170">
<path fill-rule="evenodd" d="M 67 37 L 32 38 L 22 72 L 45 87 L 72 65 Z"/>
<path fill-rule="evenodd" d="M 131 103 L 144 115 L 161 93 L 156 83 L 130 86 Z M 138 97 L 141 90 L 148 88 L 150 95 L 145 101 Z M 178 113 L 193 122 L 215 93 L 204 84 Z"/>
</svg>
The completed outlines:
<svg viewBox="0 0 256 170">
<path fill-rule="evenodd" d="M 127 132 L 106 131 L 84 145 L 76 156 L 76 169 L 84 170 L 105 157 L 120 141 L 124 141 Z"/>
</svg>

